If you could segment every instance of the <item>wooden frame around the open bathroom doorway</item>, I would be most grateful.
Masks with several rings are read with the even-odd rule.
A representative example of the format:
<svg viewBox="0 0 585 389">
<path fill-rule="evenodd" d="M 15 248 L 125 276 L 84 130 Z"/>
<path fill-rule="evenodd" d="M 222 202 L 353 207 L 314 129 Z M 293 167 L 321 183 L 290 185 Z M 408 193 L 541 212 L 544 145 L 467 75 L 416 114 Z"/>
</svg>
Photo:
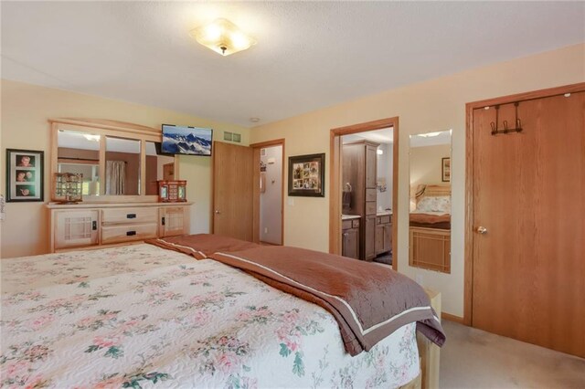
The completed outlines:
<svg viewBox="0 0 585 389">
<path fill-rule="evenodd" d="M 329 252 L 341 254 L 341 142 L 343 135 L 393 128 L 392 144 L 392 268 L 398 270 L 399 117 L 367 121 L 329 131 Z M 365 226 L 365 225 L 364 225 Z"/>
</svg>

